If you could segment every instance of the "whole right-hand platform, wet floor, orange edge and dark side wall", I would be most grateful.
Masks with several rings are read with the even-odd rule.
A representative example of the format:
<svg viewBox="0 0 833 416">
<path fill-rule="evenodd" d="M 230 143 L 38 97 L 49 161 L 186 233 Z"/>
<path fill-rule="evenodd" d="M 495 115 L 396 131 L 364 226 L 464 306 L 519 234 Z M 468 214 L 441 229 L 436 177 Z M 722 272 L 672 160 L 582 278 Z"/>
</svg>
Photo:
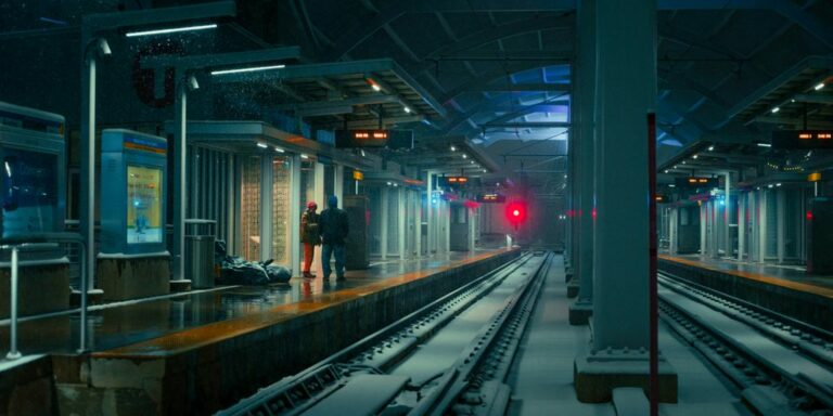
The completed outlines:
<svg viewBox="0 0 833 416">
<path fill-rule="evenodd" d="M 659 271 L 738 299 L 833 330 L 833 276 L 803 268 L 739 262 L 701 256 L 659 256 Z"/>
</svg>

